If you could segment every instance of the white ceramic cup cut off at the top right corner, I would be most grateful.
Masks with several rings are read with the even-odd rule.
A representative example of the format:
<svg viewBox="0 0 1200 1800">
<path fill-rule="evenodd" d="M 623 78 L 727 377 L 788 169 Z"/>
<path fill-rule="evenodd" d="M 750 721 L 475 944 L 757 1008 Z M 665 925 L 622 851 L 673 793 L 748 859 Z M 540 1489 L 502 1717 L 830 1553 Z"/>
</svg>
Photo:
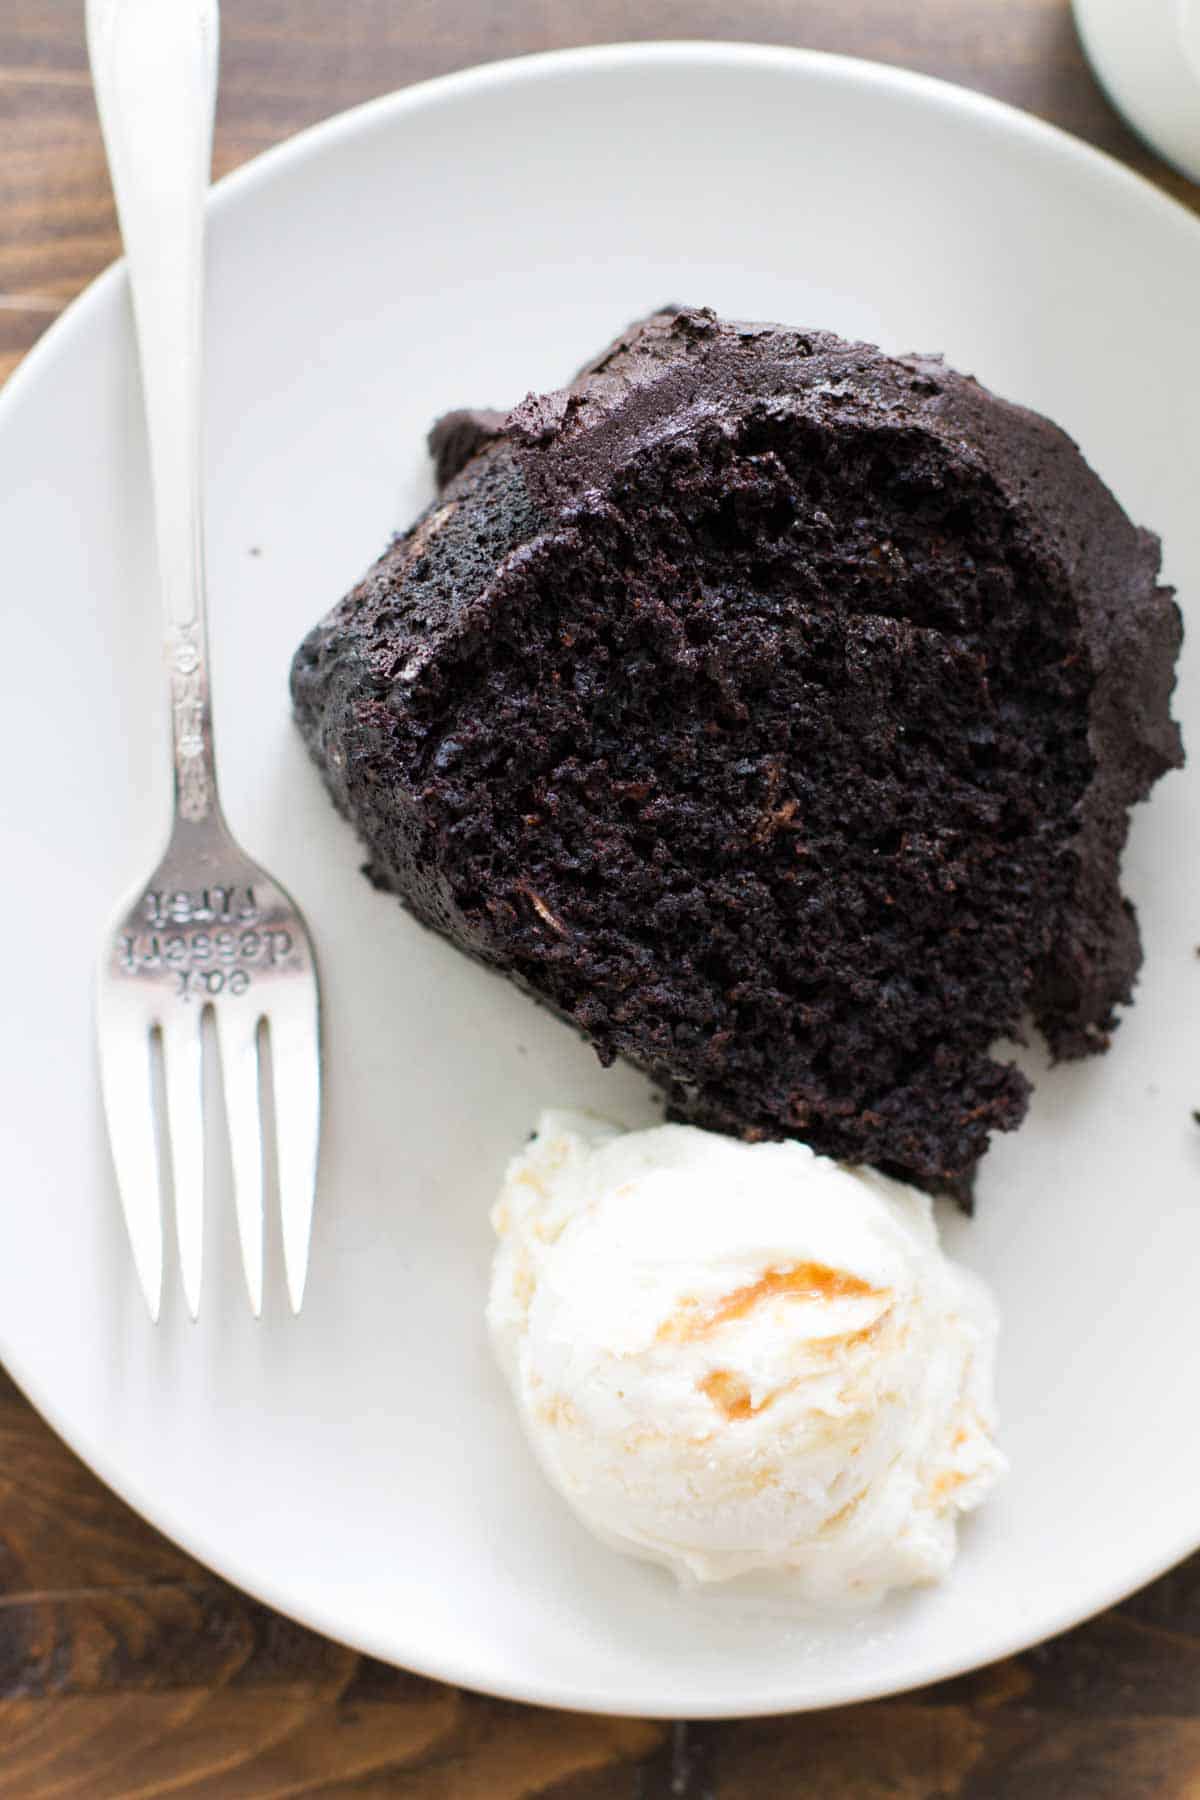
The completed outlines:
<svg viewBox="0 0 1200 1800">
<path fill-rule="evenodd" d="M 1200 0 L 1074 0 L 1074 13 L 1114 106 L 1200 182 Z"/>
</svg>

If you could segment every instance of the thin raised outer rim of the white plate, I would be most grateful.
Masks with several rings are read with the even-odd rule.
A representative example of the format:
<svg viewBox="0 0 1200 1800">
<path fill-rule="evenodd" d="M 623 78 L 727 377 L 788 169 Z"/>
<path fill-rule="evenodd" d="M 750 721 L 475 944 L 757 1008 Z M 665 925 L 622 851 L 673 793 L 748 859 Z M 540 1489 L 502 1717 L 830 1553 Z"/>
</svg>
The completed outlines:
<svg viewBox="0 0 1200 1800">
<path fill-rule="evenodd" d="M 815 76 L 824 83 L 846 83 L 855 88 L 862 88 L 864 85 L 876 86 L 880 90 L 891 90 L 918 101 L 923 99 L 943 112 L 972 119 L 975 124 L 984 122 L 997 135 L 1024 139 L 1027 144 L 1052 153 L 1060 160 L 1067 158 L 1090 176 L 1108 182 L 1114 191 L 1123 191 L 1142 209 L 1150 207 L 1151 211 L 1157 211 L 1160 221 L 1168 229 L 1182 232 L 1193 243 L 1200 238 L 1200 220 L 1182 202 L 1159 189 L 1144 175 L 1130 169 L 1108 151 L 1087 144 L 1070 131 L 1038 119 L 1007 101 L 995 99 L 990 94 L 981 94 L 939 76 L 921 74 L 892 63 L 846 56 L 831 50 L 709 38 L 666 38 L 648 40 L 644 43 L 615 41 L 565 50 L 545 50 L 527 56 L 502 58 L 488 63 L 473 63 L 468 68 L 452 70 L 450 74 L 435 76 L 428 81 L 412 83 L 410 86 L 390 90 L 338 113 L 331 113 L 327 119 L 304 126 L 300 131 L 282 139 L 279 144 L 272 144 L 257 157 L 248 158 L 245 164 L 221 176 L 219 182 L 214 182 L 207 205 L 212 214 L 219 214 L 225 207 L 236 205 L 243 194 L 252 194 L 257 185 L 273 180 L 279 171 L 299 166 L 311 157 L 320 157 L 329 148 L 354 139 L 362 131 L 371 131 L 376 122 L 381 121 L 390 121 L 407 113 L 419 113 L 426 108 L 437 108 L 448 99 L 457 101 L 461 97 L 471 97 L 473 94 L 486 94 L 493 88 L 534 85 L 561 72 L 621 74 L 622 70 L 633 67 L 775 70 L 795 76 Z M 95 275 L 63 308 L 54 322 L 41 333 L 38 342 L 25 353 L 22 362 L 0 389 L 0 432 L 7 428 L 9 414 L 22 403 L 25 389 L 40 378 L 43 364 L 52 364 L 59 344 L 65 344 L 72 333 L 88 328 L 92 311 L 104 304 L 110 290 L 122 281 L 124 259 L 117 259 Z M 1106 1611 L 1110 1606 L 1155 1580 L 1166 1570 L 1173 1568 L 1177 1562 L 1184 1561 L 1200 1548 L 1198 1521 L 1195 1530 L 1186 1534 L 1182 1541 L 1171 1544 L 1166 1552 L 1157 1552 L 1155 1555 L 1146 1557 L 1132 1577 L 1123 1573 L 1105 1584 L 1099 1589 L 1099 1595 L 1092 1593 L 1083 1607 L 1078 1604 L 1060 1606 L 1058 1613 L 1051 1616 L 1051 1622 L 1040 1625 L 1034 1636 L 1025 1634 L 1022 1629 L 1011 1629 L 999 1633 L 995 1638 L 988 1640 L 984 1649 L 972 1651 L 966 1658 L 961 1652 L 955 1654 L 954 1651 L 943 1656 L 930 1654 L 921 1665 L 918 1665 L 916 1672 L 907 1674 L 901 1681 L 885 1681 L 883 1685 L 878 1681 L 862 1681 L 858 1685 L 842 1683 L 840 1688 L 824 1692 L 819 1697 L 804 1697 L 802 1694 L 797 1696 L 793 1692 L 779 1690 L 766 1694 L 761 1701 L 752 1705 L 738 1701 L 736 1706 L 730 1706 L 712 1699 L 696 1703 L 694 1699 L 687 1699 L 680 1694 L 678 1705 L 669 1706 L 666 1703 L 646 1705 L 637 1696 L 635 1685 L 622 1687 L 612 1681 L 606 1687 L 590 1688 L 588 1692 L 561 1687 L 554 1681 L 502 1681 L 493 1674 L 488 1674 L 480 1681 L 479 1670 L 471 1669 L 468 1654 L 419 1658 L 399 1663 L 396 1649 L 390 1643 L 381 1642 L 380 1634 L 372 1629 L 354 1629 L 353 1634 L 347 1634 L 345 1624 L 338 1618 L 327 1616 L 320 1604 L 309 1604 L 290 1591 L 281 1591 L 273 1580 L 257 1575 L 252 1568 L 246 1568 L 237 1553 L 227 1553 L 221 1548 L 214 1550 L 214 1546 L 205 1541 L 201 1530 L 191 1530 L 187 1526 L 180 1528 L 173 1523 L 166 1514 L 166 1508 L 155 1501 L 144 1483 L 113 1469 L 104 1445 L 90 1447 L 86 1453 L 79 1447 L 70 1429 L 61 1424 L 58 1404 L 54 1397 L 41 1388 L 36 1370 L 31 1370 L 20 1354 L 14 1355 L 13 1346 L 5 1341 L 2 1321 L 0 1364 L 18 1391 L 41 1415 L 63 1444 L 67 1444 L 72 1454 L 79 1456 L 92 1474 L 112 1489 L 112 1492 L 130 1505 L 146 1523 L 184 1550 L 185 1555 L 203 1564 L 219 1579 L 230 1582 L 230 1586 L 246 1593 L 252 1600 L 273 1607 L 297 1624 L 317 1631 L 331 1642 L 358 1654 L 376 1656 L 380 1661 L 392 1667 L 408 1669 L 416 1674 L 426 1676 L 428 1679 L 443 1681 L 452 1687 L 473 1688 L 475 1692 L 489 1694 L 500 1699 L 522 1701 L 534 1706 L 576 1712 L 583 1710 L 608 1717 L 676 1719 L 685 1714 L 694 1719 L 752 1719 L 777 1717 L 790 1712 L 820 1712 L 869 1699 L 885 1699 L 889 1696 L 907 1694 L 954 1676 L 970 1674 L 972 1670 L 986 1667 L 1000 1658 L 1033 1649 L 1047 1638 L 1058 1636 L 1060 1633 L 1094 1618 L 1097 1613 Z"/>
</svg>

